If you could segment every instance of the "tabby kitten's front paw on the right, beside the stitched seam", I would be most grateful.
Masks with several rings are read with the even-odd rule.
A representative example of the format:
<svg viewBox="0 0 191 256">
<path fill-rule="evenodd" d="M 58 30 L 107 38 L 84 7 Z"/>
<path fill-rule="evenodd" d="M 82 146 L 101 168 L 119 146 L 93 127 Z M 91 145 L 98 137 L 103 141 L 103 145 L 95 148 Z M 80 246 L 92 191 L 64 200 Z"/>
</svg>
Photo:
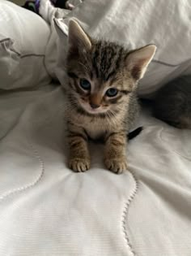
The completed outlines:
<svg viewBox="0 0 191 256">
<path fill-rule="evenodd" d="M 117 174 L 121 174 L 123 171 L 127 170 L 127 162 L 125 158 L 105 159 L 104 163 L 108 170 Z"/>
</svg>

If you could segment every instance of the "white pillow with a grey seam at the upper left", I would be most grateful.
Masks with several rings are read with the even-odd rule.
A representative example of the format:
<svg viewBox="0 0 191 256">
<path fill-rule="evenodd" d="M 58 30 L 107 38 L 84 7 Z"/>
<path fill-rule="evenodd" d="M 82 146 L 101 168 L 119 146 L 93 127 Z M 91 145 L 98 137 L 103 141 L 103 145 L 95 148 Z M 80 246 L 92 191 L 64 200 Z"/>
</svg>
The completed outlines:
<svg viewBox="0 0 191 256">
<path fill-rule="evenodd" d="M 0 1 L 0 89 L 39 86 L 49 82 L 45 47 L 49 26 L 40 16 Z"/>
</svg>

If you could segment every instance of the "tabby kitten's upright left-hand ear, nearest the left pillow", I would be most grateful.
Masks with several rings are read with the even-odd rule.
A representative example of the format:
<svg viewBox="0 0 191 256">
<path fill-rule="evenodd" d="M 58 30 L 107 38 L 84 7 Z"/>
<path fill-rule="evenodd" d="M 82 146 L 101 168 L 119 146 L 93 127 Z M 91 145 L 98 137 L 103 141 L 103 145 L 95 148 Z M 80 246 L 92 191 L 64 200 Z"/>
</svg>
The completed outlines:
<svg viewBox="0 0 191 256">
<path fill-rule="evenodd" d="M 91 39 L 83 28 L 75 20 L 70 20 L 68 31 L 68 42 L 70 52 L 79 50 L 91 50 Z"/>
</svg>

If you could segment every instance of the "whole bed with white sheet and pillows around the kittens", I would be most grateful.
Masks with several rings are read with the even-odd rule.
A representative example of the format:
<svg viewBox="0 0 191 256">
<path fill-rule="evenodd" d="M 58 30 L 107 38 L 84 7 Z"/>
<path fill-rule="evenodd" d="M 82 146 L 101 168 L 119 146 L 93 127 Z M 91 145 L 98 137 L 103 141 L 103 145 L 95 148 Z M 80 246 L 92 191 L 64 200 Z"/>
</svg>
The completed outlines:
<svg viewBox="0 0 191 256">
<path fill-rule="evenodd" d="M 91 35 L 124 44 L 134 34 L 130 48 L 159 45 L 139 89 L 150 98 L 168 80 L 191 73 L 190 5 L 138 2 L 89 0 L 58 21 L 67 26 L 74 16 Z M 140 12 L 138 34 L 119 20 L 122 10 L 130 20 Z M 150 33 L 140 27 L 144 10 Z M 129 171 L 105 170 L 101 144 L 91 144 L 91 170 L 70 171 L 65 95 L 51 77 L 59 76 L 53 24 L 11 2 L 0 2 L 0 13 L 0 255 L 190 256 L 191 131 L 164 124 L 144 106 L 136 124 L 144 129 L 127 150 Z"/>
</svg>

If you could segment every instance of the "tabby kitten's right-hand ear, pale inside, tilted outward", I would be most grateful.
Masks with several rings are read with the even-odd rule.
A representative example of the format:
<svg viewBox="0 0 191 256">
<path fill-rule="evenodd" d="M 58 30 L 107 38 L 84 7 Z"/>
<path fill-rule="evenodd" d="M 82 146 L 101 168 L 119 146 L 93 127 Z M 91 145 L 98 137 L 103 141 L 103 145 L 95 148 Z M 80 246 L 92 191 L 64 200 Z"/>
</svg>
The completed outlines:
<svg viewBox="0 0 191 256">
<path fill-rule="evenodd" d="M 148 67 L 149 63 L 151 63 L 151 60 L 155 55 L 155 50 L 155 45 L 149 45 L 138 50 L 134 50 L 127 56 L 127 68 L 134 79 L 142 79 L 146 72 L 146 68 Z"/>
</svg>

